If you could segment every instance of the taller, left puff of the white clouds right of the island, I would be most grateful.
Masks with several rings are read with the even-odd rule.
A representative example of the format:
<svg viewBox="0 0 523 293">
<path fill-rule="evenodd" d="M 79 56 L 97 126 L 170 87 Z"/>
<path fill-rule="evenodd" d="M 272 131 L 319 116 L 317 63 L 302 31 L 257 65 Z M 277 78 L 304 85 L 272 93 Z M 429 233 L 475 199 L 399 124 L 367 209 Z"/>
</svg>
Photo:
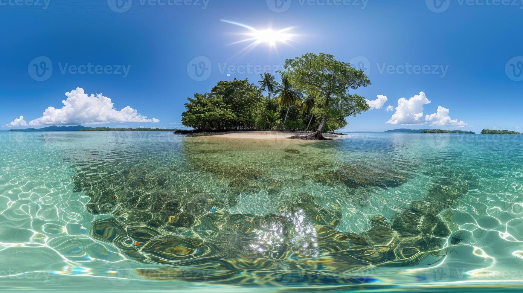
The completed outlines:
<svg viewBox="0 0 523 293">
<path fill-rule="evenodd" d="M 406 125 L 425 124 L 421 119 L 423 117 L 423 105 L 429 103 L 430 100 L 427 99 L 424 92 L 419 92 L 419 95 L 415 95 L 408 100 L 401 98 L 397 100 L 396 111 L 386 123 Z"/>
</svg>

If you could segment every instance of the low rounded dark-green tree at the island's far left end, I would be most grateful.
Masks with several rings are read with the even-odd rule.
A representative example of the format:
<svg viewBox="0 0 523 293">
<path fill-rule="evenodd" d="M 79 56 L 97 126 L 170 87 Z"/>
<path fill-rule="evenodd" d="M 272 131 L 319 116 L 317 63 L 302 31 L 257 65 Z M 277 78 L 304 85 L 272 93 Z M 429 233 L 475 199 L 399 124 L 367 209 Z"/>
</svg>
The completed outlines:
<svg viewBox="0 0 523 293">
<path fill-rule="evenodd" d="M 187 100 L 187 110 L 181 114 L 181 122 L 185 126 L 196 129 L 223 129 L 236 119 L 230 107 L 223 103 L 219 96 L 195 94 L 194 98 Z"/>
</svg>

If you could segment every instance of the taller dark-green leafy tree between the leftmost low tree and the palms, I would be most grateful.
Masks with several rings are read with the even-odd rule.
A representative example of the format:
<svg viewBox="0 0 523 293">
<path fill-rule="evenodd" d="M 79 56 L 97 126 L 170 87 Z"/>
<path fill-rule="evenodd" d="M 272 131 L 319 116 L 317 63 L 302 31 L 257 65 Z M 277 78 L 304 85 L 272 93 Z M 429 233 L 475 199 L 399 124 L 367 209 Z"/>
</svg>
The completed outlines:
<svg viewBox="0 0 523 293">
<path fill-rule="evenodd" d="M 218 82 L 210 94 L 222 97 L 223 103 L 230 107 L 236 117 L 232 121 L 233 128 L 253 128 L 264 106 L 259 87 L 247 79 Z"/>
</svg>

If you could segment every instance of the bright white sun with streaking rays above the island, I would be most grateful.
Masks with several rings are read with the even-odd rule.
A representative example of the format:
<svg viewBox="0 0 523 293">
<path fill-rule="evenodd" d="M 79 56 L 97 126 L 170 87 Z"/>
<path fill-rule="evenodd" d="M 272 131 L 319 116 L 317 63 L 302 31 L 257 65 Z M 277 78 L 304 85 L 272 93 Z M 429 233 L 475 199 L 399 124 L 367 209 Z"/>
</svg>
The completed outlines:
<svg viewBox="0 0 523 293">
<path fill-rule="evenodd" d="M 280 29 L 280 30 L 273 30 L 271 28 L 268 28 L 268 29 L 264 29 L 264 30 L 258 30 L 251 26 L 240 24 L 239 22 L 235 22 L 235 21 L 231 21 L 231 20 L 222 19 L 221 21 L 248 29 L 248 31 L 241 34 L 243 36 L 246 36 L 245 39 L 232 43 L 232 44 L 236 44 L 236 43 L 252 41 L 252 43 L 249 44 L 242 51 L 251 50 L 254 47 L 258 46 L 258 44 L 262 44 L 262 43 L 268 44 L 268 46 L 270 48 L 276 49 L 278 43 L 285 43 L 285 44 L 289 45 L 288 42 L 293 41 L 293 37 L 295 36 L 293 33 L 290 32 L 290 30 L 292 28 L 284 28 L 284 29 Z"/>
</svg>

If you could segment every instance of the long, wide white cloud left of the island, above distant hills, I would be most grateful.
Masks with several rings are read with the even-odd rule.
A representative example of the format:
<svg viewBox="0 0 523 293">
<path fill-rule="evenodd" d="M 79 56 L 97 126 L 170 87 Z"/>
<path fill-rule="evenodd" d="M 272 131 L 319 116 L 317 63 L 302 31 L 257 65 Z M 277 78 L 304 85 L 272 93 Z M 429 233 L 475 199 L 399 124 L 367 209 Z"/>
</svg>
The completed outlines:
<svg viewBox="0 0 523 293">
<path fill-rule="evenodd" d="M 31 120 L 29 125 L 79 125 L 79 124 L 101 124 L 109 122 L 153 122 L 160 120 L 156 118 L 147 119 L 138 113 L 138 110 L 129 106 L 117 110 L 114 108 L 110 98 L 97 94 L 90 96 L 84 89 L 77 87 L 70 93 L 65 93 L 67 99 L 62 100 L 64 106 L 60 109 L 49 107 L 43 112 L 43 116 Z"/>
</svg>

